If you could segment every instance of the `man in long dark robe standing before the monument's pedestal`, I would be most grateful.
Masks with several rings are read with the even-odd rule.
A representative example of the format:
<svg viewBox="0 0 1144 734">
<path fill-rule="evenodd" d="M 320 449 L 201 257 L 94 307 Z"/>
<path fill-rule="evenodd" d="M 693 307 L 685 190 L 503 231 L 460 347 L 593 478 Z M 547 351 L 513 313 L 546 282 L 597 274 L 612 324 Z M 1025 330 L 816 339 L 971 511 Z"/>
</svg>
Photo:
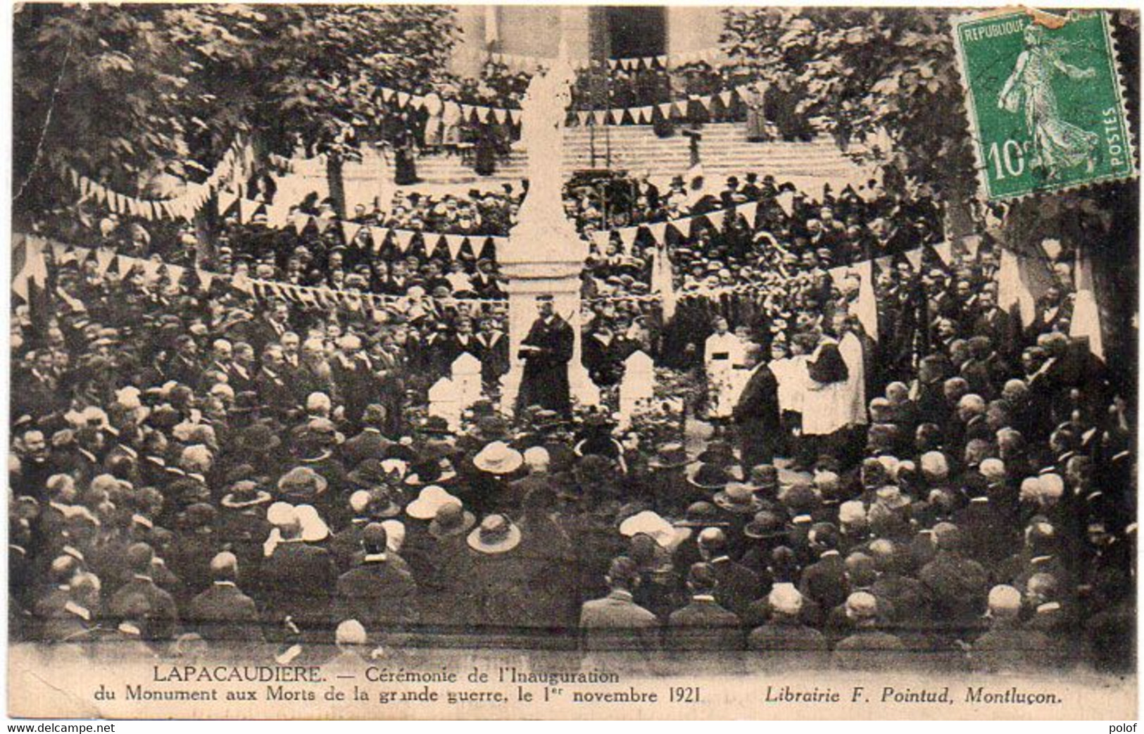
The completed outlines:
<svg viewBox="0 0 1144 734">
<path fill-rule="evenodd" d="M 575 334 L 566 321 L 556 315 L 553 298 L 537 299 L 540 317 L 521 342 L 524 376 L 521 378 L 518 408 L 540 405 L 565 417 L 572 415 L 569 392 L 569 360 Z"/>
</svg>

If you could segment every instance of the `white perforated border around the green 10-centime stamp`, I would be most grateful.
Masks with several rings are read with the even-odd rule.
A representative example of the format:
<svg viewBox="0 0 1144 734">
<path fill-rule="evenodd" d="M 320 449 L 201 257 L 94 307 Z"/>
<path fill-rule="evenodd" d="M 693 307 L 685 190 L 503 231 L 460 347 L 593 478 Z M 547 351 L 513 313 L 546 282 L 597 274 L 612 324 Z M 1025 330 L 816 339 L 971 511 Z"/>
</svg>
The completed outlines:
<svg viewBox="0 0 1144 734">
<path fill-rule="evenodd" d="M 990 191 L 988 174 L 986 173 L 985 160 L 982 158 L 982 147 L 979 144 L 980 131 L 977 127 L 977 112 L 976 112 L 976 101 L 974 100 L 972 89 L 969 88 L 969 77 L 966 68 L 966 56 L 964 49 L 961 47 L 961 35 L 958 32 L 961 25 L 982 21 L 982 19 L 993 19 L 1002 17 L 1018 17 L 1032 15 L 1028 10 L 1022 8 L 1014 8 L 1012 13 L 998 13 L 998 8 L 975 10 L 972 13 L 963 13 L 961 15 L 955 15 L 950 18 L 950 25 L 953 31 L 953 50 L 958 61 L 958 78 L 961 81 L 961 90 L 964 95 L 966 103 L 966 116 L 969 118 L 969 135 L 970 135 L 970 148 L 974 149 L 974 161 L 975 169 L 974 175 L 977 176 L 979 194 L 983 195 L 986 202 L 1018 202 L 1034 196 L 1040 196 L 1044 194 L 1065 194 L 1068 191 L 1079 191 L 1088 189 L 1090 187 L 1097 187 L 1104 183 L 1115 183 L 1119 181 L 1133 181 L 1139 177 L 1138 161 L 1136 159 L 1136 131 L 1131 126 L 1131 121 L 1128 117 L 1128 89 L 1125 87 L 1123 76 L 1120 73 L 1120 49 L 1117 46 L 1117 37 L 1113 33 L 1112 25 L 1112 14 L 1104 8 L 1095 10 L 1070 10 L 1066 16 L 1067 21 L 1071 22 L 1074 17 L 1085 13 L 1099 13 L 1104 18 L 1104 23 L 1101 24 L 1104 31 L 1104 41 L 1109 48 L 1109 64 L 1111 65 L 1112 77 L 1114 79 L 1114 87 L 1117 90 L 1117 103 L 1120 110 L 1120 119 L 1123 123 L 1126 143 L 1128 145 L 1128 156 L 1131 161 L 1131 169 L 1127 174 L 1122 175 L 1109 175 L 1099 179 L 1094 179 L 1091 181 L 1078 181 L 1075 183 L 1065 184 L 1062 187 L 1046 188 L 1046 189 L 1031 189 L 1022 194 L 1011 195 L 999 195 L 993 196 Z M 1035 21 L 1034 21 L 1035 22 Z"/>
</svg>

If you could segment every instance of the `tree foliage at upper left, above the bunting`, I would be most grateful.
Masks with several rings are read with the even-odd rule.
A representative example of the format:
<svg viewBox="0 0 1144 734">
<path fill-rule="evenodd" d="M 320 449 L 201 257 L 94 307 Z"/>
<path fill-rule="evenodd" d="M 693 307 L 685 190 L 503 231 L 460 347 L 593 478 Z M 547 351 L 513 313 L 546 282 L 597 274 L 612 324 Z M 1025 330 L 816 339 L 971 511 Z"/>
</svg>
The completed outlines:
<svg viewBox="0 0 1144 734">
<path fill-rule="evenodd" d="M 444 6 L 27 3 L 16 190 L 57 160 L 125 192 L 194 180 L 240 132 L 262 152 L 352 156 L 382 117 L 376 86 L 431 84 L 455 34 Z"/>
</svg>

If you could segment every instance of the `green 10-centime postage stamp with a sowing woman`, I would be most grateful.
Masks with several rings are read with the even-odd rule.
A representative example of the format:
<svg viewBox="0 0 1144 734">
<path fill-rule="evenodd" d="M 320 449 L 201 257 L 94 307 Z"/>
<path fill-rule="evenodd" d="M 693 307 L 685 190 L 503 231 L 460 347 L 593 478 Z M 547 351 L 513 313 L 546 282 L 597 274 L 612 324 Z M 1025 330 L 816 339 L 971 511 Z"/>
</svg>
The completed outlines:
<svg viewBox="0 0 1144 734">
<path fill-rule="evenodd" d="M 988 199 L 1135 175 L 1131 132 L 1104 10 L 1063 23 L 976 14 L 953 23 Z"/>
</svg>

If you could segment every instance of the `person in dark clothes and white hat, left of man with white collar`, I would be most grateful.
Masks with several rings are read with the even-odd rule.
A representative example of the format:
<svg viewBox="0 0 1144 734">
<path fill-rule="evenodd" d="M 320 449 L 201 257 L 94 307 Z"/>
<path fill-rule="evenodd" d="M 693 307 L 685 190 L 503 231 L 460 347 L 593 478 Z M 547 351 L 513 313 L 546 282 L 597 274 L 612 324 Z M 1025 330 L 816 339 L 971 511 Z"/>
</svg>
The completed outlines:
<svg viewBox="0 0 1144 734">
<path fill-rule="evenodd" d="M 277 520 L 281 540 L 261 568 L 265 615 L 275 625 L 289 616 L 303 631 L 325 629 L 337 583 L 334 560 L 325 548 L 302 540 L 302 523 L 292 508 Z"/>
</svg>

